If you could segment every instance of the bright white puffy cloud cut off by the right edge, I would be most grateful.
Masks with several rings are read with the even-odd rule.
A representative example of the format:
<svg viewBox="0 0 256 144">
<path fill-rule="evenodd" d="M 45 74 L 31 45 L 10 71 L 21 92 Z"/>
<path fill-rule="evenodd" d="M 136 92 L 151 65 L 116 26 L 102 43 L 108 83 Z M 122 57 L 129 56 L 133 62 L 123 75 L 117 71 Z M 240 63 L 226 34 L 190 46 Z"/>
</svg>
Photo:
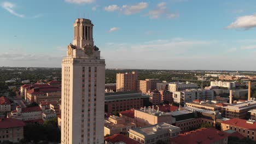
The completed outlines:
<svg viewBox="0 0 256 144">
<path fill-rule="evenodd" d="M 256 27 L 256 14 L 237 17 L 227 28 L 250 29 Z"/>
</svg>

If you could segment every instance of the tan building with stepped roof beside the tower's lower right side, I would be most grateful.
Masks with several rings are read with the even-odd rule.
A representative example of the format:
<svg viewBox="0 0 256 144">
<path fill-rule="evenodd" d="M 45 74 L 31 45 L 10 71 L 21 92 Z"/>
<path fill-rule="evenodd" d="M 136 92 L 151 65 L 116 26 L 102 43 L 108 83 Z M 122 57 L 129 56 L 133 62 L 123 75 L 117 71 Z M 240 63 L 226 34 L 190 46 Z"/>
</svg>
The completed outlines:
<svg viewBox="0 0 256 144">
<path fill-rule="evenodd" d="M 104 124 L 104 136 L 127 133 L 129 129 L 136 128 L 135 123 L 126 121 L 118 116 L 110 116 Z"/>
</svg>

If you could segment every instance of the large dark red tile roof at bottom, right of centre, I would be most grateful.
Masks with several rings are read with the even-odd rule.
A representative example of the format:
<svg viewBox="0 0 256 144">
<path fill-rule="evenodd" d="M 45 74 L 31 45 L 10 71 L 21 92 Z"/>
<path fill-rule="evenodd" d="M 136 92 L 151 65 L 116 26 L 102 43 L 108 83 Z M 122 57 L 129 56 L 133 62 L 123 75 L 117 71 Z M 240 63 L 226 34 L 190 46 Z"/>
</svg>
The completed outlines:
<svg viewBox="0 0 256 144">
<path fill-rule="evenodd" d="M 172 137 L 170 141 L 176 144 L 179 144 L 179 143 L 208 144 L 208 143 L 214 143 L 219 140 L 225 139 L 228 136 L 229 135 L 224 133 L 223 131 L 219 131 L 214 128 L 208 128 L 208 129 L 197 129 L 197 130 L 179 135 L 177 137 Z"/>
</svg>

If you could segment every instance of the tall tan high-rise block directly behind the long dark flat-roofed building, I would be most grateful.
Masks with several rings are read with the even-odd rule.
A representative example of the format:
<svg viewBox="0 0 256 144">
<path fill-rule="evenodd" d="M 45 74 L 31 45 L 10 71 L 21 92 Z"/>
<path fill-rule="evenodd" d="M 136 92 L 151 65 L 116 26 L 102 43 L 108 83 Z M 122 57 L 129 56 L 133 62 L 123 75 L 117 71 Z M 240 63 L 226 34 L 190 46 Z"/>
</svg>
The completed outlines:
<svg viewBox="0 0 256 144">
<path fill-rule="evenodd" d="M 117 92 L 136 91 L 138 75 L 136 71 L 117 74 Z"/>
</svg>

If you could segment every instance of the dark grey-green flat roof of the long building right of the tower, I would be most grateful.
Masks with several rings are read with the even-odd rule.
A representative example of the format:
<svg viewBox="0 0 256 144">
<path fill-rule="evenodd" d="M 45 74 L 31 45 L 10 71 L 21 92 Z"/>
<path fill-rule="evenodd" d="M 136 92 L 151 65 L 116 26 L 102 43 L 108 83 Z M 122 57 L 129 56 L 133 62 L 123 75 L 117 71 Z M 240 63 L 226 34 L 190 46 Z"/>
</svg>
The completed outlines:
<svg viewBox="0 0 256 144">
<path fill-rule="evenodd" d="M 148 95 L 139 92 L 112 92 L 105 93 L 105 101 L 148 98 Z"/>
</svg>

